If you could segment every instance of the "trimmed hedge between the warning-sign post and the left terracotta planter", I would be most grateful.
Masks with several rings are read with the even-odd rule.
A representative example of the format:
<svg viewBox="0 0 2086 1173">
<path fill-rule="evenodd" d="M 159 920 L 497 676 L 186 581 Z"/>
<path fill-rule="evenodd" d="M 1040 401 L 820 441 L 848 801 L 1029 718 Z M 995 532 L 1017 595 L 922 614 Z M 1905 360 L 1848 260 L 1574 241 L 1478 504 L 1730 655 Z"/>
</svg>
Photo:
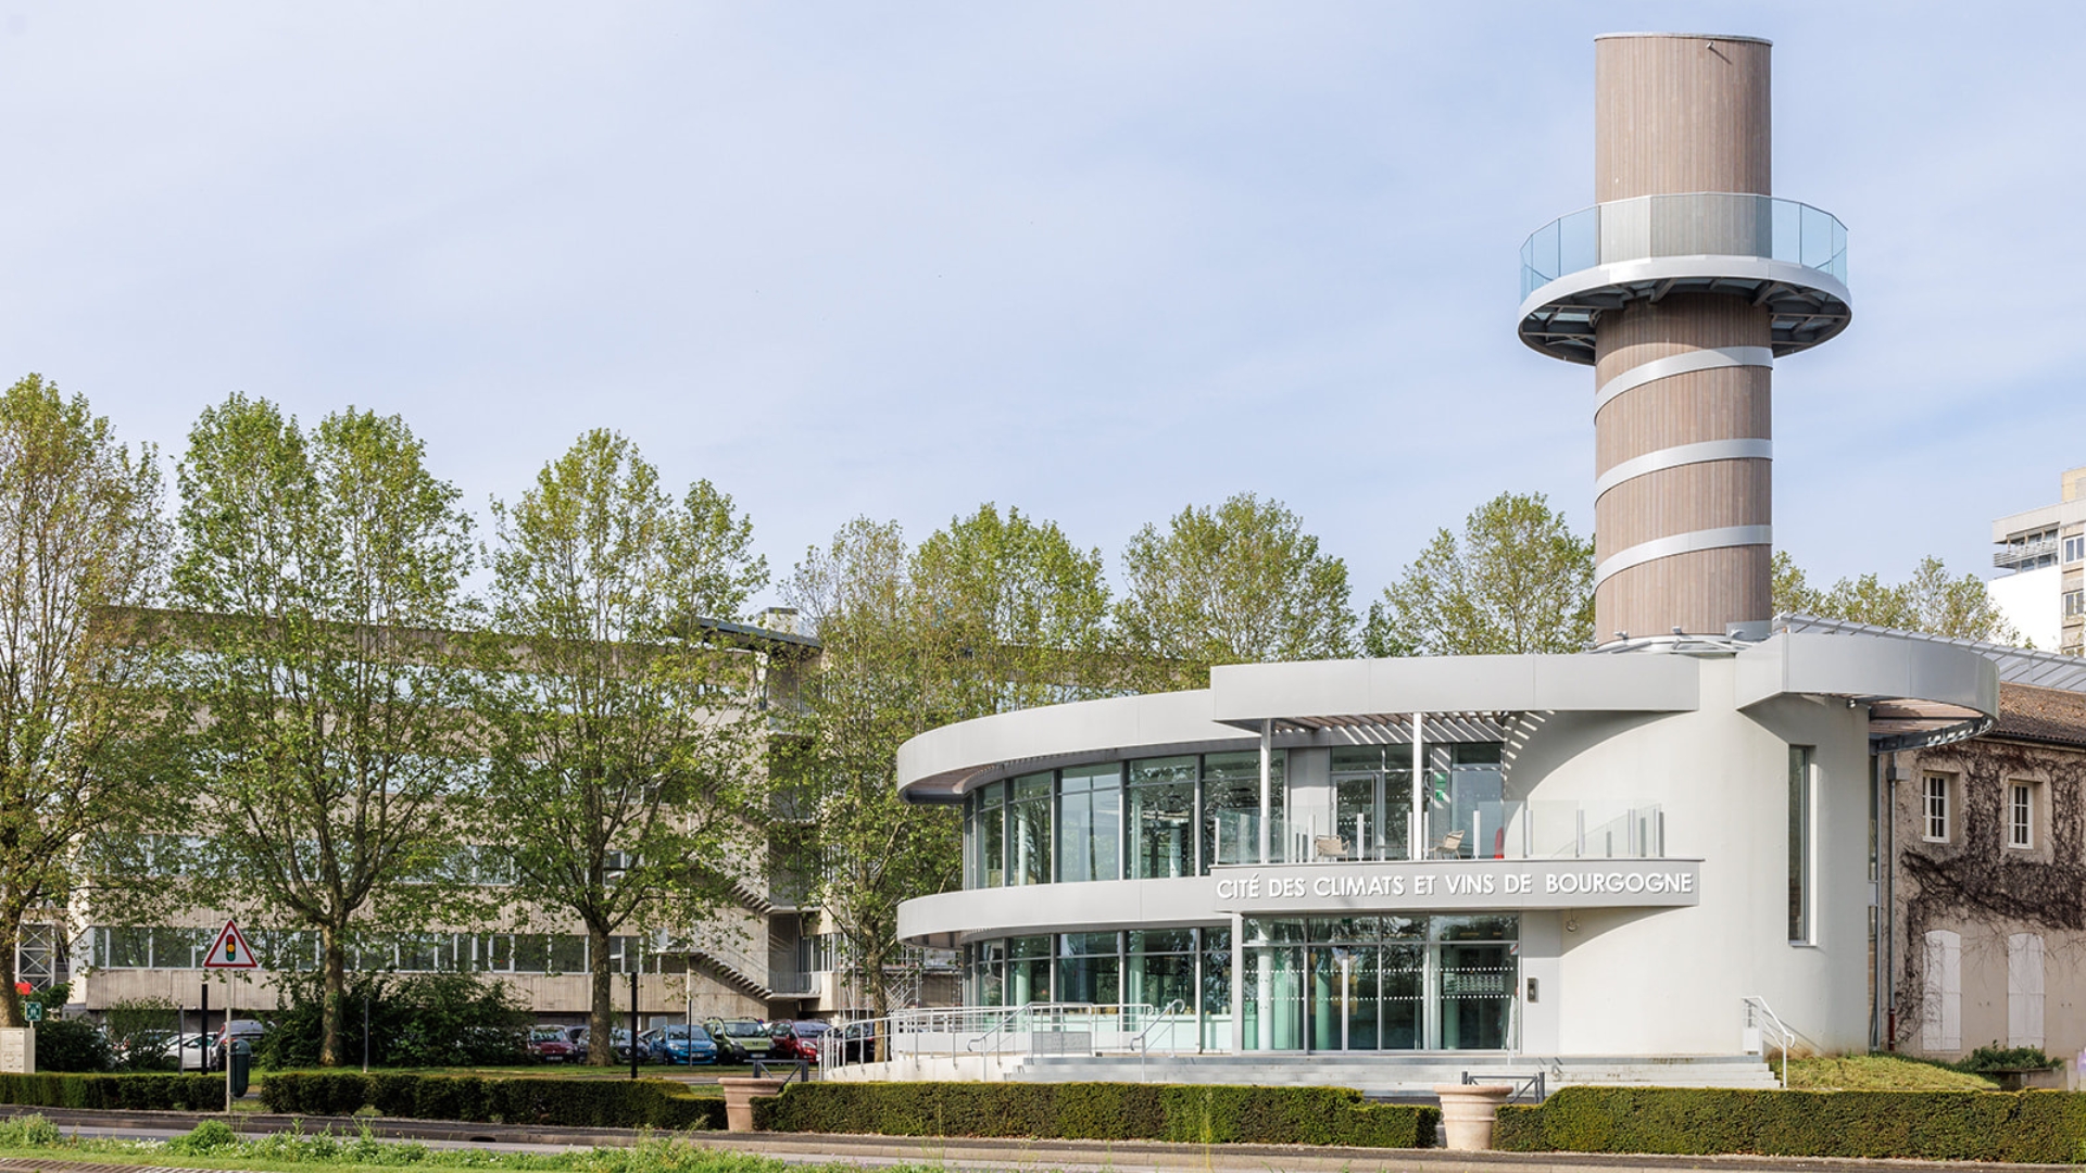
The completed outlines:
<svg viewBox="0 0 2086 1173">
<path fill-rule="evenodd" d="M 611 1129 L 722 1129 L 724 1098 L 670 1079 L 482 1079 L 476 1075 L 277 1073 L 261 1081 L 271 1112 L 419 1121 L 501 1121 Z"/>
</svg>

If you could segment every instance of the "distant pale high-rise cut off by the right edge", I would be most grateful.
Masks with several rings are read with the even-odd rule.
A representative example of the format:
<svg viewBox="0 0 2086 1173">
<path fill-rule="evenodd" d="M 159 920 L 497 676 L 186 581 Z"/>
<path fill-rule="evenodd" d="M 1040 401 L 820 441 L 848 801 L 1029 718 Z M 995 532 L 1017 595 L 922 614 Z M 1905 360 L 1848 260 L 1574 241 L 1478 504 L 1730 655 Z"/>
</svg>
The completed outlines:
<svg viewBox="0 0 2086 1173">
<path fill-rule="evenodd" d="M 2063 474 L 2055 505 L 1992 522 L 1992 601 L 2021 632 L 2048 651 L 2086 651 L 2086 468 Z"/>
</svg>

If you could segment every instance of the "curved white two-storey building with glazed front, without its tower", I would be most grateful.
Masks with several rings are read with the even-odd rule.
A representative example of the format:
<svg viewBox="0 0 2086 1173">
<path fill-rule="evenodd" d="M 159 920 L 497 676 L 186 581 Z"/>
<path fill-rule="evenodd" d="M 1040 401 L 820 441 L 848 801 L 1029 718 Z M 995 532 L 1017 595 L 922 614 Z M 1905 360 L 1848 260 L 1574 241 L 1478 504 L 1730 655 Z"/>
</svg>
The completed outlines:
<svg viewBox="0 0 2086 1173">
<path fill-rule="evenodd" d="M 899 756 L 966 808 L 964 889 L 901 935 L 962 948 L 972 1004 L 1179 1000 L 1204 1052 L 1738 1054 L 1746 998 L 1854 1050 L 1871 741 L 1996 695 L 1973 651 L 1775 635 L 972 720 Z"/>
</svg>

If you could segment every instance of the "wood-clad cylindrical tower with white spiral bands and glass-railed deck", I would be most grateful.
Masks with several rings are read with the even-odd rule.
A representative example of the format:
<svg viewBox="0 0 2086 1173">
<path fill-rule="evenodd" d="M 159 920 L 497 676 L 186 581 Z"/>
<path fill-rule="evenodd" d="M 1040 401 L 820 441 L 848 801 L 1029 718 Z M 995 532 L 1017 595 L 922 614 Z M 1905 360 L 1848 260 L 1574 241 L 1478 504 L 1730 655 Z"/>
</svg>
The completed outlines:
<svg viewBox="0 0 2086 1173">
<path fill-rule="evenodd" d="M 1771 616 L 1773 361 L 1846 330 L 1846 228 L 1771 190 L 1756 38 L 1594 42 L 1596 205 L 1521 246 L 1521 340 L 1594 367 L 1594 630 Z"/>
</svg>

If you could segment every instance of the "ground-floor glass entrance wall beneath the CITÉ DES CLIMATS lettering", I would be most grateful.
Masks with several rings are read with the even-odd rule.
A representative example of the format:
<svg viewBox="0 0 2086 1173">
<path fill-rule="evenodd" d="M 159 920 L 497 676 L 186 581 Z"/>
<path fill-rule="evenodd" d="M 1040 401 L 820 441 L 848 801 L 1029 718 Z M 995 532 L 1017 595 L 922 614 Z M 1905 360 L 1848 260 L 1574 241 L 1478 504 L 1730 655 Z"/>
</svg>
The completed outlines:
<svg viewBox="0 0 2086 1173">
<path fill-rule="evenodd" d="M 1245 1050 L 1508 1050 L 1519 916 L 1245 923 Z"/>
</svg>

